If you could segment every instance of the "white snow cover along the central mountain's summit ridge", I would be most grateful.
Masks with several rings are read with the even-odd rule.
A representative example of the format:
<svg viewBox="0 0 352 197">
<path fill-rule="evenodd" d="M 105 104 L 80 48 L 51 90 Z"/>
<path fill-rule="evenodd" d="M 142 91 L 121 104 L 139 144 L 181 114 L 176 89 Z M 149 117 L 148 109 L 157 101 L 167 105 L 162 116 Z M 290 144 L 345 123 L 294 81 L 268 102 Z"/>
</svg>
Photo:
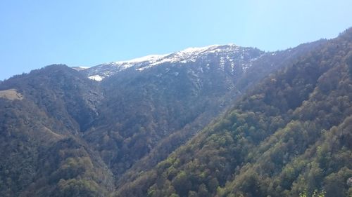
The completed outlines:
<svg viewBox="0 0 352 197">
<path fill-rule="evenodd" d="M 244 72 L 251 67 L 251 61 L 255 60 L 258 55 L 251 54 L 253 48 L 244 48 L 234 44 L 228 45 L 211 45 L 205 47 L 192 47 L 180 50 L 175 53 L 165 55 L 147 55 L 132 60 L 110 62 L 100 64 L 96 67 L 84 69 L 89 79 L 102 81 L 113 74 L 121 72 L 124 69 L 134 67 L 137 71 L 142 72 L 145 69 L 159 66 L 161 64 L 186 64 L 187 62 L 196 62 L 198 60 L 218 60 L 220 69 L 224 69 L 225 64 L 230 64 L 231 72 L 234 67 L 241 67 Z"/>
</svg>

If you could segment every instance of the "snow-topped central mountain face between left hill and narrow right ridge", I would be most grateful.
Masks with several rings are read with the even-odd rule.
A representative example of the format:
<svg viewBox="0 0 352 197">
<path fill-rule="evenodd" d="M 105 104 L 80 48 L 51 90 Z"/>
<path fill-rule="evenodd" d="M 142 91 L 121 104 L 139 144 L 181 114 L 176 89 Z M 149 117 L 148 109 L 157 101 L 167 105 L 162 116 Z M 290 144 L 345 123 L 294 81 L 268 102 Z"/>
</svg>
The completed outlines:
<svg viewBox="0 0 352 197">
<path fill-rule="evenodd" d="M 113 165 L 115 175 L 125 172 L 159 142 L 174 134 L 177 140 L 163 146 L 163 157 L 167 156 L 239 94 L 241 89 L 234 86 L 237 76 L 241 76 L 243 71 L 241 67 L 234 67 L 234 62 L 250 64 L 263 53 L 253 48 L 242 48 L 241 56 L 242 52 L 232 48 L 234 46 L 223 47 L 226 51 L 222 54 L 197 53 L 189 56 L 194 57 L 194 61 L 189 62 L 163 59 L 163 63 L 154 67 L 148 65 L 147 69 L 141 70 L 141 63 L 122 71 L 119 68 L 117 74 L 101 81 L 106 92 L 106 100 L 103 101 L 106 106 L 101 107 L 101 116 L 84 138 L 106 155 L 103 158 Z M 222 60 L 224 53 L 229 57 L 227 61 Z M 180 57 L 178 54 L 184 52 L 175 54 L 169 55 L 168 60 Z M 222 66 L 219 66 L 220 61 Z M 146 65 L 145 62 L 142 64 Z M 109 67 L 115 68 L 113 65 Z M 118 124 L 112 125 L 112 122 Z M 104 136 L 109 139 L 108 142 L 103 142 Z"/>
</svg>

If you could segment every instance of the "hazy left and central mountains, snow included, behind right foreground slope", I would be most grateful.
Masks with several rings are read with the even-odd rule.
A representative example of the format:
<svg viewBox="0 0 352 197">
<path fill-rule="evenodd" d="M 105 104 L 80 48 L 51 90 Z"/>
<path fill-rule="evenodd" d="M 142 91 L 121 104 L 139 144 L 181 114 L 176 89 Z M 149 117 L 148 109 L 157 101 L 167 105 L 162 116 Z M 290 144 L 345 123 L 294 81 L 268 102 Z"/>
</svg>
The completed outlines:
<svg viewBox="0 0 352 197">
<path fill-rule="evenodd" d="M 0 196 L 125 189 L 260 80 L 326 43 L 275 53 L 188 48 L 92 68 L 51 65 L 3 81 Z"/>
</svg>

